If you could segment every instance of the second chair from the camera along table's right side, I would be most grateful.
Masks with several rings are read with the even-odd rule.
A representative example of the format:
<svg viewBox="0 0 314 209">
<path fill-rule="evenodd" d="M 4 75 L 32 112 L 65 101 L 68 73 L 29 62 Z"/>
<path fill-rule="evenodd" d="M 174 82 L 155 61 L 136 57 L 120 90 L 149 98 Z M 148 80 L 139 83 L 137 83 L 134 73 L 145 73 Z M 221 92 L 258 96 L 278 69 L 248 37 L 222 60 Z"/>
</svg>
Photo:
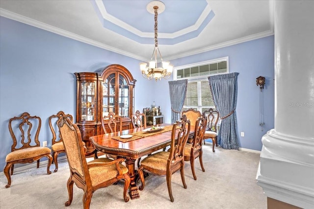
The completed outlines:
<svg viewBox="0 0 314 209">
<path fill-rule="evenodd" d="M 186 143 L 184 148 L 184 161 L 189 161 L 191 163 L 191 169 L 194 180 L 196 180 L 195 175 L 195 159 L 199 158 L 202 171 L 205 172 L 205 168 L 203 165 L 203 138 L 207 125 L 207 117 L 203 114 L 199 117 L 195 122 L 194 136 L 192 143 Z"/>
</svg>

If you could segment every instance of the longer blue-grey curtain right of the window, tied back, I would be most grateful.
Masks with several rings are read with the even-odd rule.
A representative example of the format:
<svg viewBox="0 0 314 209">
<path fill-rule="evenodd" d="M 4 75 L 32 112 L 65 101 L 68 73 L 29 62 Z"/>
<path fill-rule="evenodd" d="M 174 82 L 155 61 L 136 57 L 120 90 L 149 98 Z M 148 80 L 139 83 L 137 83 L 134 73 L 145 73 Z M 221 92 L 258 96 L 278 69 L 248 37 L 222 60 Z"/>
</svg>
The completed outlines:
<svg viewBox="0 0 314 209">
<path fill-rule="evenodd" d="M 238 72 L 209 76 L 214 104 L 221 116 L 217 141 L 224 149 L 238 149 L 236 98 Z"/>
</svg>

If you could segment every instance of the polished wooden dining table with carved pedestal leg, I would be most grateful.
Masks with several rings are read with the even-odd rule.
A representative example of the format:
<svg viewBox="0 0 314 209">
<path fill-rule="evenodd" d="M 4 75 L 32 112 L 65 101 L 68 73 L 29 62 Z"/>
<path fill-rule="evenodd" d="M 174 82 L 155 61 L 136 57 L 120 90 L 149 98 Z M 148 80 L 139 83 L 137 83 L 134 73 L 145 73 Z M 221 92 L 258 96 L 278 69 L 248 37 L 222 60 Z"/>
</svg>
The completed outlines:
<svg viewBox="0 0 314 209">
<path fill-rule="evenodd" d="M 170 145 L 171 142 L 172 124 L 158 124 L 155 127 L 163 128 L 155 132 L 148 132 L 147 130 L 150 127 L 151 126 L 148 126 L 147 129 L 129 129 L 122 132 L 114 132 L 110 134 L 92 136 L 89 138 L 98 151 L 123 157 L 125 159 L 126 167 L 129 169 L 129 175 L 131 177 L 131 199 L 139 198 L 138 188 L 136 185 L 138 173 L 135 167 L 135 161 L 157 150 L 163 149 L 164 147 Z M 194 128 L 191 126 L 190 130 L 190 136 L 193 136 Z M 125 135 L 132 135 L 132 137 L 130 139 L 126 139 L 128 141 L 121 141 L 124 140 L 120 139 L 121 136 Z M 134 138 L 134 140 L 132 138 Z"/>
</svg>

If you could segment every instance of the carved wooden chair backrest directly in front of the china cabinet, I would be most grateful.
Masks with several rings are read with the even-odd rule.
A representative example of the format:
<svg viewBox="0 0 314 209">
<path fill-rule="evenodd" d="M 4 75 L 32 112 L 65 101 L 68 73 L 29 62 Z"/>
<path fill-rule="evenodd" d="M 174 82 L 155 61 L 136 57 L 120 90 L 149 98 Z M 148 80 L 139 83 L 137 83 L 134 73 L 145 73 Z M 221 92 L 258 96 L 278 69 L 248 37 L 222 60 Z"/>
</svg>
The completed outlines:
<svg viewBox="0 0 314 209">
<path fill-rule="evenodd" d="M 102 125 L 105 134 L 122 131 L 122 117 L 109 112 L 108 116 L 102 118 Z"/>
</svg>

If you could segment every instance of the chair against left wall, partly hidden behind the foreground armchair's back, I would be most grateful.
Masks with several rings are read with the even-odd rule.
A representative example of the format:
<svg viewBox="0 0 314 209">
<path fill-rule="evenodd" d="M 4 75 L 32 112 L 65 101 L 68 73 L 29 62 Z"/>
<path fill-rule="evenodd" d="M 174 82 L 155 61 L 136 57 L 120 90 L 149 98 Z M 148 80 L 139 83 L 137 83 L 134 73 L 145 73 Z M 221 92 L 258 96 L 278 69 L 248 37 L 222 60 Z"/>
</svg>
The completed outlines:
<svg viewBox="0 0 314 209">
<path fill-rule="evenodd" d="M 62 143 L 62 138 L 60 136 L 58 123 L 62 119 L 63 116 L 68 116 L 71 122 L 73 123 L 73 116 L 70 114 L 65 114 L 63 111 L 59 111 L 56 115 L 52 115 L 49 117 L 49 127 L 52 132 L 52 158 L 53 163 L 55 165 L 54 172 L 58 171 L 58 155 L 60 153 L 65 153 L 64 146 Z"/>
</svg>

